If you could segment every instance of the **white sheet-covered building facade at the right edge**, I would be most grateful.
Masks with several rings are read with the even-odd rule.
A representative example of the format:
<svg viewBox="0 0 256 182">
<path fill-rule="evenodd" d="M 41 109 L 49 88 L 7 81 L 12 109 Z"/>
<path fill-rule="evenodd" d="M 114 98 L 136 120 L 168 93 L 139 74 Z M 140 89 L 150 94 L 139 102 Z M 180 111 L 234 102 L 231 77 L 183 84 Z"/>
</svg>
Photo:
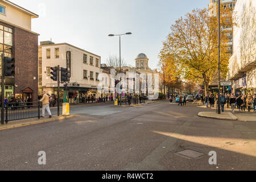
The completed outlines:
<svg viewBox="0 0 256 182">
<path fill-rule="evenodd" d="M 234 27 L 228 80 L 234 81 L 233 92 L 256 94 L 256 1 L 238 0 L 234 11 L 239 27 Z"/>
</svg>

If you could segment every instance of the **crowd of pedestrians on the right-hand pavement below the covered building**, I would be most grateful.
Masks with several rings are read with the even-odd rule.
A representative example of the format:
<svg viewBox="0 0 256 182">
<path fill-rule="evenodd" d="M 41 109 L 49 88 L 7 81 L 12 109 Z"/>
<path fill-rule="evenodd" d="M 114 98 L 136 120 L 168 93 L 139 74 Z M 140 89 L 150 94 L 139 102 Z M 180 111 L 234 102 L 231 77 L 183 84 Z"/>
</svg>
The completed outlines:
<svg viewBox="0 0 256 182">
<path fill-rule="evenodd" d="M 216 103 L 218 103 L 218 94 L 216 95 L 216 97 L 214 97 L 213 94 L 207 94 L 207 96 L 205 96 L 205 104 L 207 107 L 209 106 L 209 104 L 210 107 L 214 107 L 215 101 Z M 248 112 L 250 112 L 251 110 L 256 111 L 256 94 L 254 94 L 254 96 L 251 96 L 251 94 L 248 94 L 248 96 L 246 96 L 245 94 L 240 94 L 236 96 L 234 93 L 221 94 L 220 105 L 222 112 L 224 112 L 225 105 L 227 108 L 229 108 L 229 106 L 231 107 L 232 113 L 235 112 L 234 109 L 236 109 L 236 107 L 239 111 L 243 112 L 245 112 L 246 109 Z"/>
</svg>

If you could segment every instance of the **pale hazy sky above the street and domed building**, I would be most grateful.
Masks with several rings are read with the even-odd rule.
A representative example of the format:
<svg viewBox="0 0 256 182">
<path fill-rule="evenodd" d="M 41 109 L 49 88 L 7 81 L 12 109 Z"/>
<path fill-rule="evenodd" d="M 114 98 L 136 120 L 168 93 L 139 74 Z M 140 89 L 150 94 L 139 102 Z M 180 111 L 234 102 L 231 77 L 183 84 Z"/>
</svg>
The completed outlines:
<svg viewBox="0 0 256 182">
<path fill-rule="evenodd" d="M 108 34 L 132 32 L 122 36 L 121 54 L 134 65 L 145 53 L 150 68 L 157 68 L 158 53 L 170 25 L 195 8 L 207 7 L 209 0 L 11 0 L 36 14 L 32 31 L 39 42 L 69 43 L 101 56 L 119 55 L 118 37 Z"/>
</svg>

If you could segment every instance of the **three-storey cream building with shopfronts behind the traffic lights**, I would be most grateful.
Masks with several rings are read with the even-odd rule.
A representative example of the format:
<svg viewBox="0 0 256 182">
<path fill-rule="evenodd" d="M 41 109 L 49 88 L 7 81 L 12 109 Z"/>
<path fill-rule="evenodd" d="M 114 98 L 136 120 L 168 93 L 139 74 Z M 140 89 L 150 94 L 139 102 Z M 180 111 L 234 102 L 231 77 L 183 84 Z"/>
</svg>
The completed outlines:
<svg viewBox="0 0 256 182">
<path fill-rule="evenodd" d="M 70 64 L 67 51 L 71 51 Z M 80 102 L 84 101 L 87 96 L 98 98 L 100 56 L 67 43 L 41 42 L 39 46 L 39 93 L 45 90 L 49 95 L 57 95 L 57 81 L 50 78 L 50 68 L 57 67 L 57 65 L 63 68 L 69 68 L 67 65 L 70 65 L 71 78 L 68 83 L 68 95 L 71 103 L 75 97 L 79 98 Z M 60 98 L 63 98 L 64 84 L 60 84 L 60 87 Z"/>
</svg>

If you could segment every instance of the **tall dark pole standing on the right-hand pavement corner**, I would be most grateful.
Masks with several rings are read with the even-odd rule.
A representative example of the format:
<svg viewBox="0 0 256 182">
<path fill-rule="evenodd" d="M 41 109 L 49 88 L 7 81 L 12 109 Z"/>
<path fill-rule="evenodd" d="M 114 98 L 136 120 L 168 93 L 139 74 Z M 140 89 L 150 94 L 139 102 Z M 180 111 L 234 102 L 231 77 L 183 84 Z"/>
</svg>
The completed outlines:
<svg viewBox="0 0 256 182">
<path fill-rule="evenodd" d="M 218 114 L 220 111 L 220 3 L 218 0 Z"/>
</svg>

